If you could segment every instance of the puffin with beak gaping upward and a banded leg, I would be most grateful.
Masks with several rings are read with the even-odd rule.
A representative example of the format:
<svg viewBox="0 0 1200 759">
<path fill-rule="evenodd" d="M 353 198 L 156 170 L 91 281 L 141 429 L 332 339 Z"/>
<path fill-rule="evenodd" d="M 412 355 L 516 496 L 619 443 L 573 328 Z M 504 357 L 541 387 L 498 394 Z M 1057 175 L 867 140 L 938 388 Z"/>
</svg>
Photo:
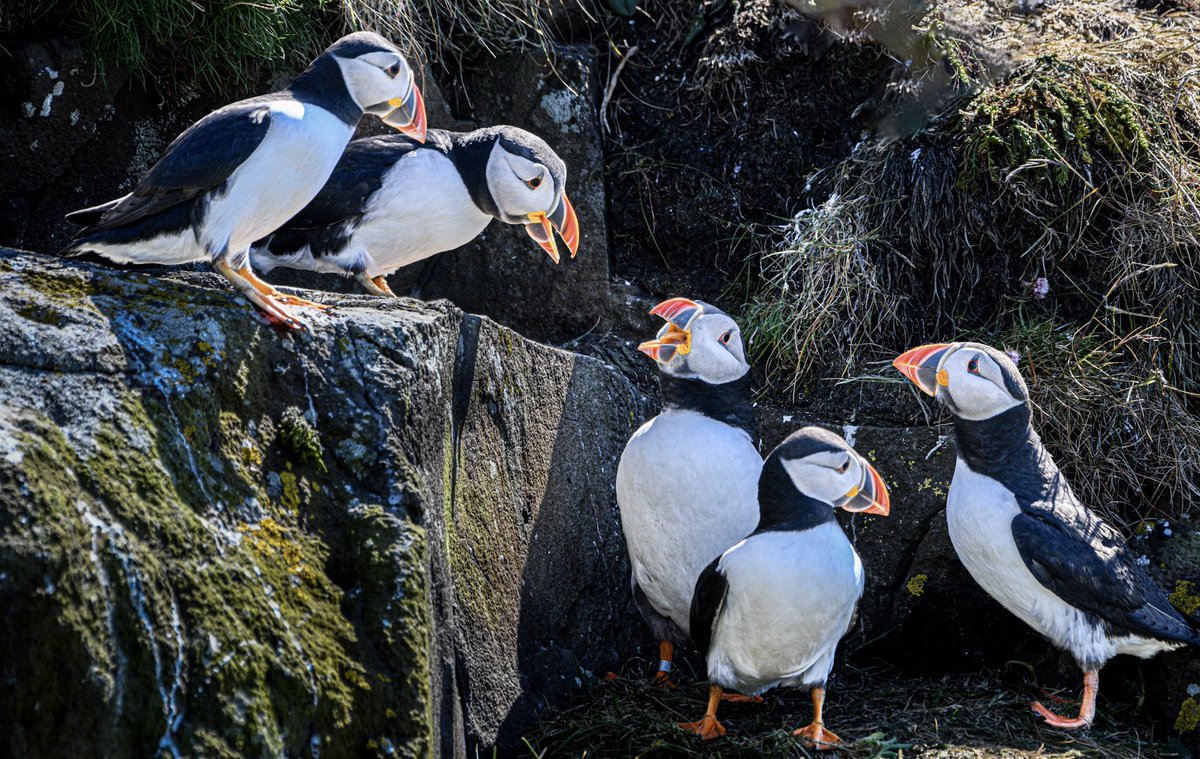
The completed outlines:
<svg viewBox="0 0 1200 759">
<path fill-rule="evenodd" d="M 662 411 L 620 454 L 617 506 L 634 600 L 659 640 L 655 680 L 671 686 L 696 578 L 758 524 L 762 456 L 751 438 L 750 364 L 737 323 L 686 298 L 650 313 L 666 324 L 637 349 L 658 364 Z"/>
</svg>

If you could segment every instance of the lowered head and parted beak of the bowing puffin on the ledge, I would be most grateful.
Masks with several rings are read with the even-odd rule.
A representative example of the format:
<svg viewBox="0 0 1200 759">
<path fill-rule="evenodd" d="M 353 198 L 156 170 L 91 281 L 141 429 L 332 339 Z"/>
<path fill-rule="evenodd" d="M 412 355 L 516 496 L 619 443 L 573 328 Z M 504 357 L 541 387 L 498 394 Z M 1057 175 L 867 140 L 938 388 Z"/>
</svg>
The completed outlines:
<svg viewBox="0 0 1200 759">
<path fill-rule="evenodd" d="M 580 247 L 580 222 L 566 197 L 566 165 L 546 142 L 515 126 L 493 126 L 472 135 L 492 142 L 487 159 L 487 190 L 496 216 L 526 232 L 558 263 L 554 232 L 563 237 L 571 258 Z"/>
</svg>

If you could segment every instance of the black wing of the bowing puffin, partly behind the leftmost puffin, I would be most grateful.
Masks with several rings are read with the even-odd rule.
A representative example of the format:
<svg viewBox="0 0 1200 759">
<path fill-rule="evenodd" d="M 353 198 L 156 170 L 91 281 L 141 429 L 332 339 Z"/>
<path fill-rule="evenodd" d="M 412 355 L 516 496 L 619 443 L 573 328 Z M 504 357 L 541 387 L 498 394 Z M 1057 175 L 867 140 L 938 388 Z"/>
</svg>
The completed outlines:
<svg viewBox="0 0 1200 759">
<path fill-rule="evenodd" d="M 293 253 L 305 245 L 314 256 L 337 252 L 348 231 L 366 211 L 367 203 L 383 187 L 384 175 L 406 155 L 421 148 L 403 135 L 355 139 L 346 148 L 329 181 L 308 205 L 254 246 L 266 246 L 274 255 Z"/>
</svg>

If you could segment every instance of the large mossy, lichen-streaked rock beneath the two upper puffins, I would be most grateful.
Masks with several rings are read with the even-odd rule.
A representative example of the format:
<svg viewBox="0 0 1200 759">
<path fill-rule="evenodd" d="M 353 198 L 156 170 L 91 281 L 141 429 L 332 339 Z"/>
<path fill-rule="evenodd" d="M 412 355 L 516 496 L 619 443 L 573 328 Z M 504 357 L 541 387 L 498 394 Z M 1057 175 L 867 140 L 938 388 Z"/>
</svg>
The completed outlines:
<svg viewBox="0 0 1200 759">
<path fill-rule="evenodd" d="M 644 396 L 444 303 L 296 336 L 215 285 L 0 252 L 0 753 L 474 754 L 632 655 Z"/>
</svg>

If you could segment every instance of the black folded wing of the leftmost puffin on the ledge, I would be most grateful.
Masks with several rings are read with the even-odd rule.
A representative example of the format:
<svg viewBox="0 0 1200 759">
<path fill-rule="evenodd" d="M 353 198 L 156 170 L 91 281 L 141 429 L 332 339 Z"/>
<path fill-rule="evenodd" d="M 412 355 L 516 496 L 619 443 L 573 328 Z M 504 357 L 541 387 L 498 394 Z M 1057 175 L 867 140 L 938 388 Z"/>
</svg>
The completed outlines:
<svg viewBox="0 0 1200 759">
<path fill-rule="evenodd" d="M 208 192 L 246 162 L 270 126 L 270 106 L 264 98 L 214 110 L 167 145 L 166 153 L 133 192 L 110 208 L 101 205 L 68 214 L 68 220 L 94 220 L 76 237 L 139 221 Z M 104 213 L 97 220 L 95 211 L 101 209 Z"/>
</svg>

